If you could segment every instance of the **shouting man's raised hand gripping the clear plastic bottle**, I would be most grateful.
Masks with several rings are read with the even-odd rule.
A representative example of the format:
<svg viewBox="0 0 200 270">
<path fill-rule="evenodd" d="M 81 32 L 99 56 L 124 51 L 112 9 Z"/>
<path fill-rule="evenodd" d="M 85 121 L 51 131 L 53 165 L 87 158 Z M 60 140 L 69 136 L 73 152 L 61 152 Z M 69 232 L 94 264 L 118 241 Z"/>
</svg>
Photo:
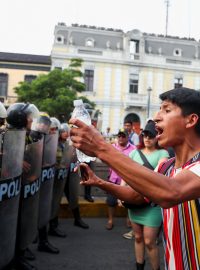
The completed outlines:
<svg viewBox="0 0 200 270">
<path fill-rule="evenodd" d="M 70 119 L 69 123 L 73 126 L 70 129 L 70 137 L 74 147 L 88 156 L 97 157 L 102 146 L 106 144 L 103 136 L 94 126 L 87 126 L 78 119 Z"/>
</svg>

